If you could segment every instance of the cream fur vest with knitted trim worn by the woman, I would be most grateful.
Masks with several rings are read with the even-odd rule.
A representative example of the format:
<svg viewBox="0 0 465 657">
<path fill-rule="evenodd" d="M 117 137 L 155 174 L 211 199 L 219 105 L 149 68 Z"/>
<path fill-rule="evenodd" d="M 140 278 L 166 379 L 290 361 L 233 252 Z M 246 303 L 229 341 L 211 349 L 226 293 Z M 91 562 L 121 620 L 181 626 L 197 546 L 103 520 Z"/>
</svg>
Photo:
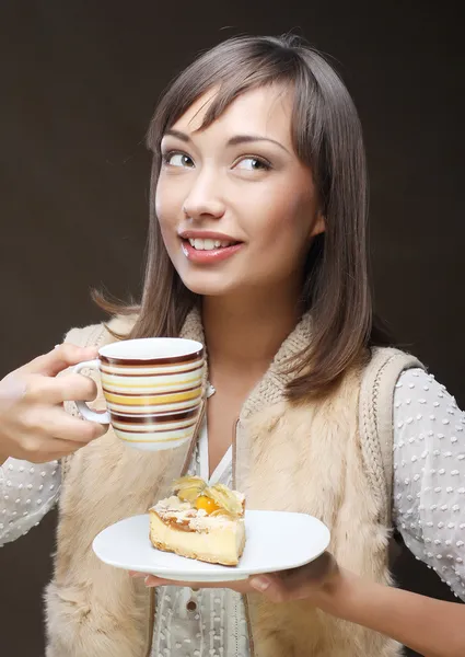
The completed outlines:
<svg viewBox="0 0 465 657">
<path fill-rule="evenodd" d="M 132 320 L 115 319 L 127 333 Z M 374 349 L 370 364 L 349 371 L 337 391 L 304 405 L 284 401 L 289 356 L 311 339 L 305 316 L 286 339 L 242 408 L 234 449 L 235 486 L 252 509 L 316 516 L 332 531 L 339 564 L 390 583 L 392 408 L 399 373 L 419 362 L 394 349 Z M 193 311 L 182 335 L 204 341 Z M 79 345 L 112 342 L 104 326 L 72 330 Z M 94 407 L 103 407 L 100 395 Z M 70 406 L 70 412 L 75 408 Z M 92 552 L 105 527 L 146 512 L 164 496 L 189 460 L 191 446 L 138 452 L 112 429 L 63 462 L 55 576 L 46 591 L 47 657 L 147 657 L 153 591 Z M 255 657 L 394 657 L 395 642 L 315 610 L 305 601 L 272 604 L 247 596 Z"/>
</svg>

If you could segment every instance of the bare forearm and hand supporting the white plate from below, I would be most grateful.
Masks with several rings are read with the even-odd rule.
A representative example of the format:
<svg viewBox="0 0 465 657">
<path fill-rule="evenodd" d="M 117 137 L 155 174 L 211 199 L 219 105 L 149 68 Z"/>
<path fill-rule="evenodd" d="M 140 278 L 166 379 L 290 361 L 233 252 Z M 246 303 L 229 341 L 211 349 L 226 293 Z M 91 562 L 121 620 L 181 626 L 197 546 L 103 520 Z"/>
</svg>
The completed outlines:
<svg viewBox="0 0 465 657">
<path fill-rule="evenodd" d="M 274 602 L 311 600 L 326 613 L 391 636 L 426 657 L 465 655 L 465 606 L 364 579 L 339 569 L 328 553 L 287 574 L 252 577 L 249 584 Z"/>
</svg>

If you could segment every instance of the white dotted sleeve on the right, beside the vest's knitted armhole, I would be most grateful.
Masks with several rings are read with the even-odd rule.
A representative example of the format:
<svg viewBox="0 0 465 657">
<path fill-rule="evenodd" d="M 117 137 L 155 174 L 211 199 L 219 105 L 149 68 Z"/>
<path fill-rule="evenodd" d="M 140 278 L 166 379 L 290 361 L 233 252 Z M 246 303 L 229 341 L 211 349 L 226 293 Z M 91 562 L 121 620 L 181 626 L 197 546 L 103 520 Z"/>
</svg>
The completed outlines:
<svg viewBox="0 0 465 657">
<path fill-rule="evenodd" d="M 465 413 L 421 369 L 396 384 L 393 508 L 410 552 L 465 600 Z"/>
</svg>

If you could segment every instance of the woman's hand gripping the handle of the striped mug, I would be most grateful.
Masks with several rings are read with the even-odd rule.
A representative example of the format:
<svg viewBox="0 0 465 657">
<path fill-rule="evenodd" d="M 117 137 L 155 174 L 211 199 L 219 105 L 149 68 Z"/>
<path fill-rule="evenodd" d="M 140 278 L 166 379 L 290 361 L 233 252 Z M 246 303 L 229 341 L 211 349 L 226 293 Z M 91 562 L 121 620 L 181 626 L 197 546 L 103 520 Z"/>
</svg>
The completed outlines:
<svg viewBox="0 0 465 657">
<path fill-rule="evenodd" d="M 78 373 L 57 374 L 97 349 L 63 344 L 9 373 L 0 381 L 0 462 L 8 457 L 45 463 L 72 453 L 107 426 L 72 417 L 65 401 L 92 401 L 97 389 Z"/>
</svg>

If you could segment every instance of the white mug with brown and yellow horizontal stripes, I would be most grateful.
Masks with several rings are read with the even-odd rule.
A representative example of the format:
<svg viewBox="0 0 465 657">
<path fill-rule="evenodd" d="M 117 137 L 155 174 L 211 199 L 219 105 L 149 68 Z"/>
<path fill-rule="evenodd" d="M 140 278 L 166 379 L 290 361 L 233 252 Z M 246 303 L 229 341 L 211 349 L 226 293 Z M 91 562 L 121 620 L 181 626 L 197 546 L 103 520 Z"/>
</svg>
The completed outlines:
<svg viewBox="0 0 465 657">
<path fill-rule="evenodd" d="M 204 345 L 181 337 L 126 339 L 98 349 L 74 372 L 97 369 L 106 412 L 75 402 L 84 419 L 112 424 L 131 447 L 173 449 L 190 440 L 205 392 Z"/>
</svg>

